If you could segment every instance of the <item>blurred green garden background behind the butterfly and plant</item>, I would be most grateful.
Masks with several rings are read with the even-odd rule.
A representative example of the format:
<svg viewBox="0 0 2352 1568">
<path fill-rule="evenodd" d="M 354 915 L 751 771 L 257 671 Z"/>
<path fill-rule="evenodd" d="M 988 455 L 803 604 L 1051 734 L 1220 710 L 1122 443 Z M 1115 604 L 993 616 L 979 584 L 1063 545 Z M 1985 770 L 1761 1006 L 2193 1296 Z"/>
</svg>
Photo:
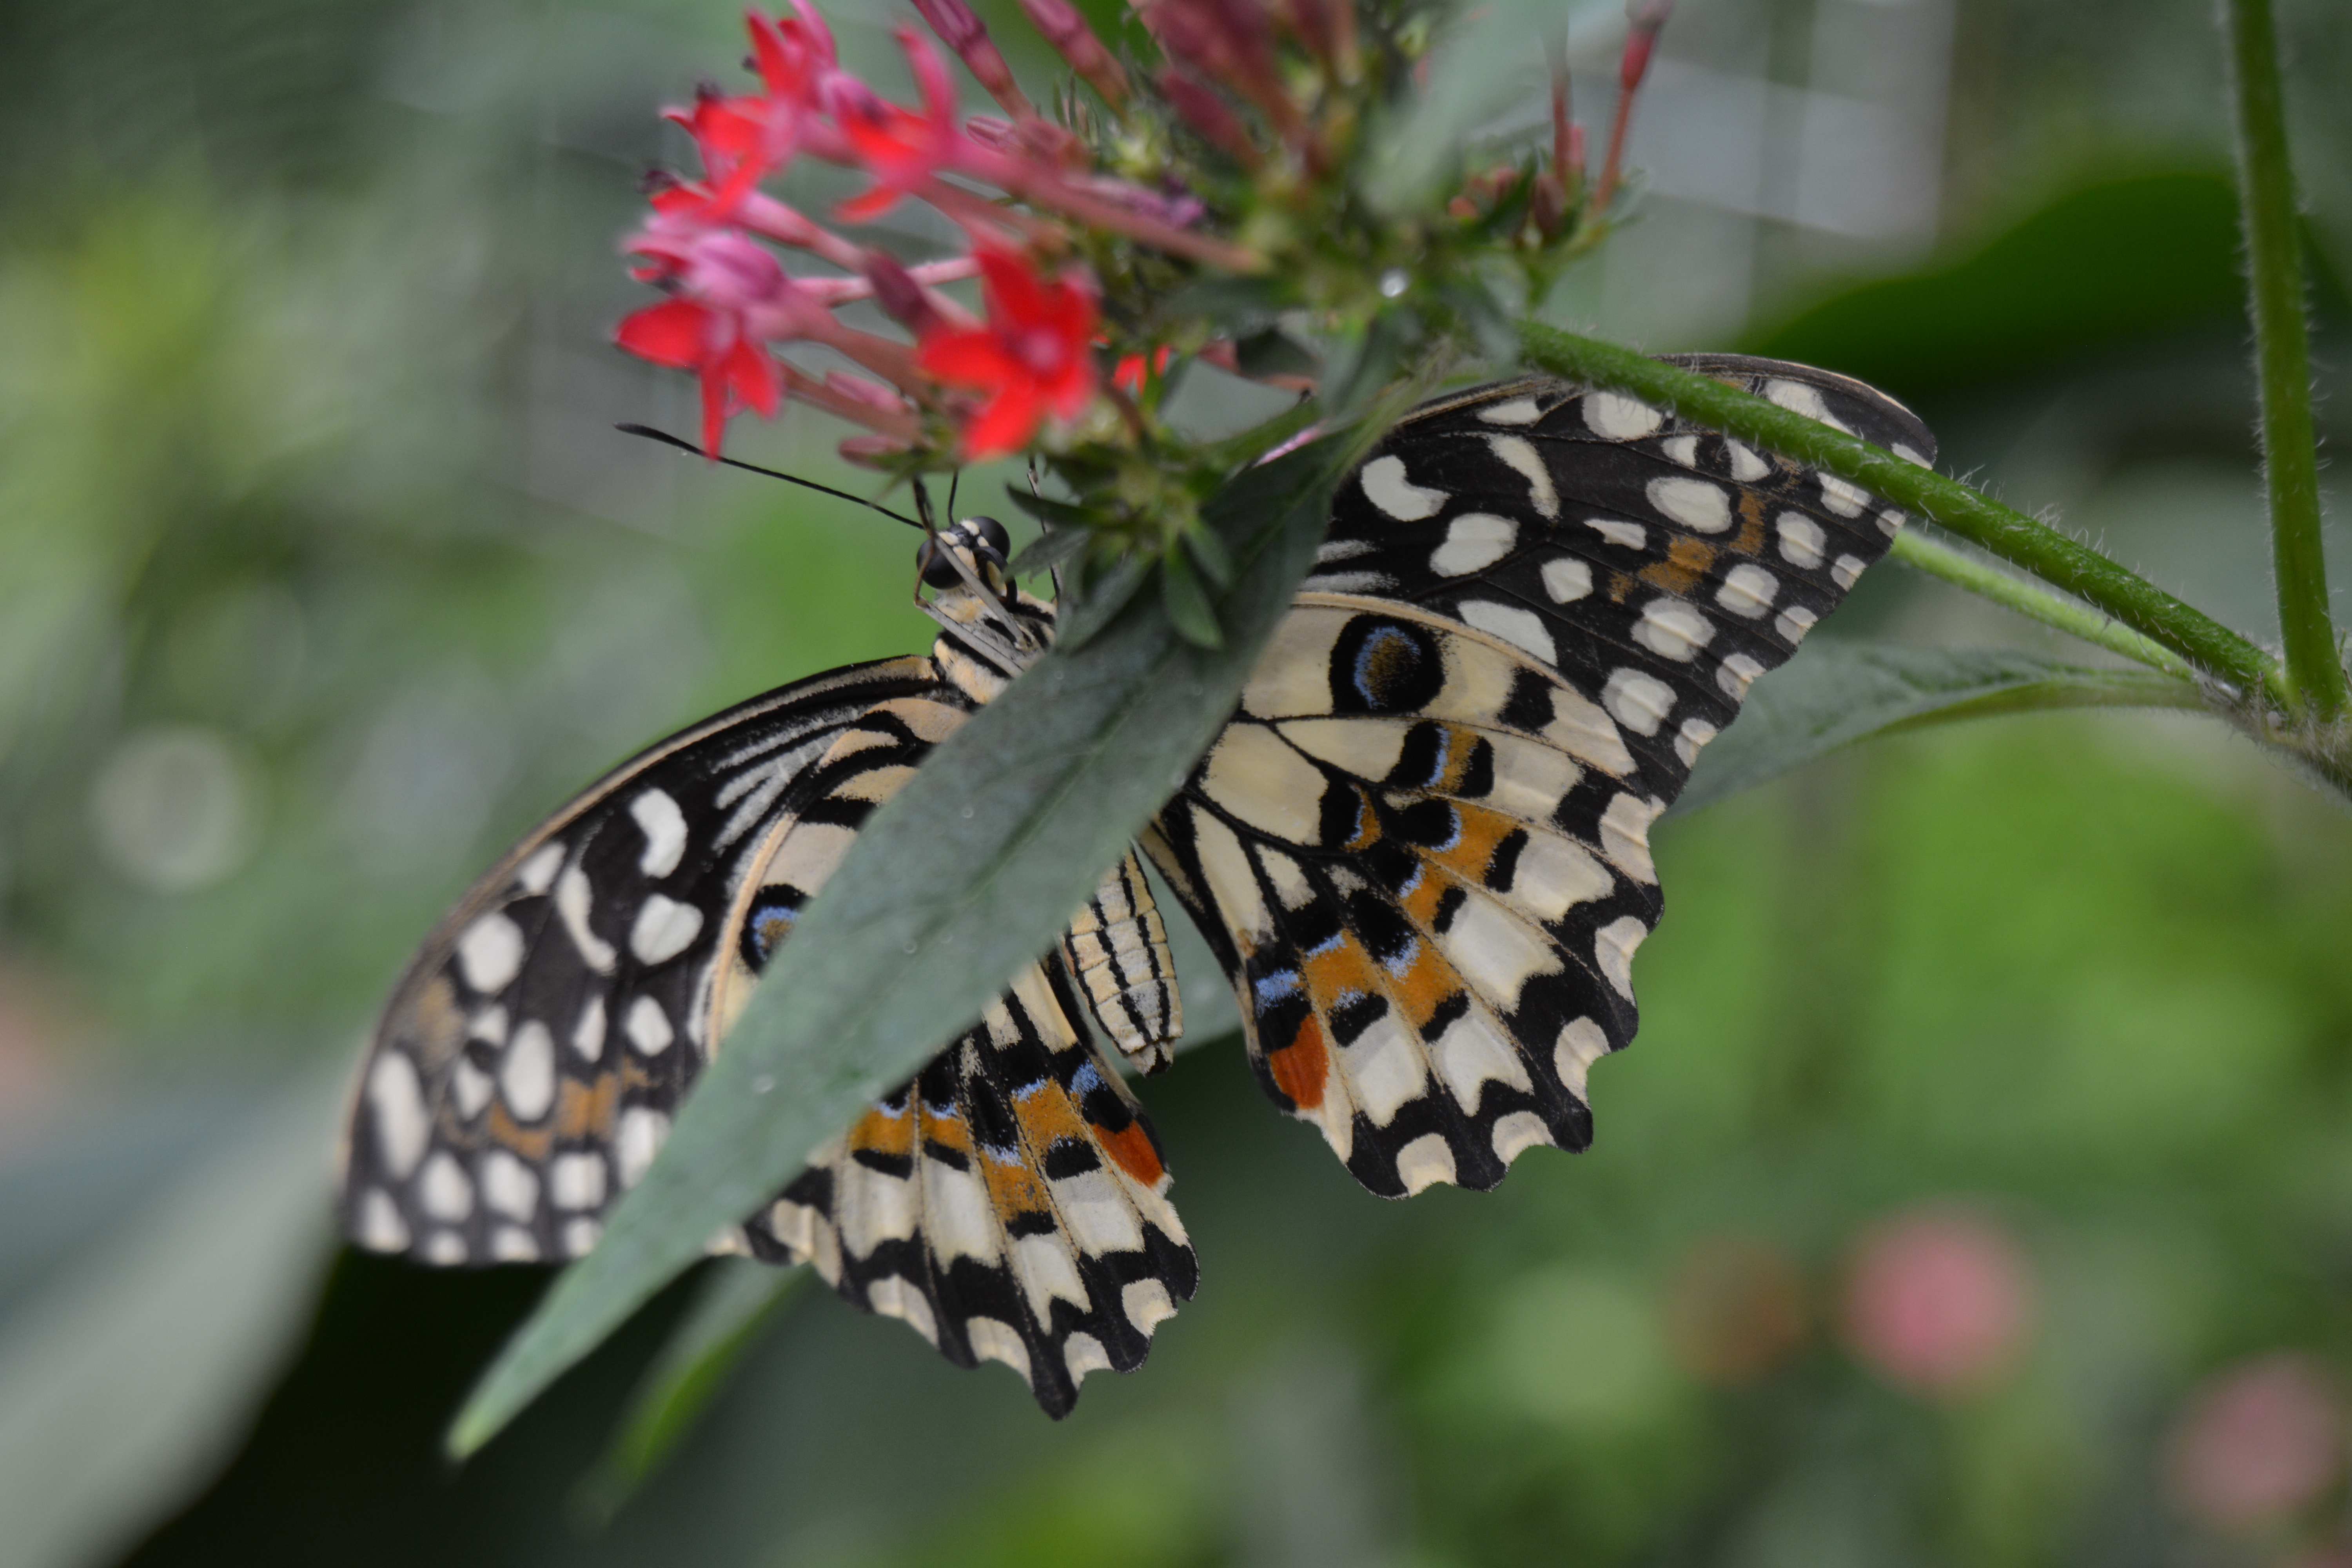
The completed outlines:
<svg viewBox="0 0 2352 1568">
<path fill-rule="evenodd" d="M 896 12 L 830 9 L 887 75 Z M 2281 16 L 2336 386 L 2352 16 Z M 612 433 L 691 423 L 607 348 L 614 240 L 739 40 L 0 7 L 0 1561 L 2352 1561 L 2352 823 L 2145 715 L 1670 820 L 1599 1143 L 1494 1194 L 1369 1199 L 1185 1056 L 1202 1293 L 1063 1425 L 807 1293 L 593 1528 L 673 1293 L 447 1469 L 543 1274 L 329 1251 L 374 1004 L 604 764 L 927 635 L 894 527 Z M 2270 635 L 2204 0 L 1686 0 L 1639 127 L 1562 320 L 1867 376 Z M 814 418 L 736 440 L 844 482 Z M 1893 567 L 1839 632 L 2044 646 Z"/>
</svg>

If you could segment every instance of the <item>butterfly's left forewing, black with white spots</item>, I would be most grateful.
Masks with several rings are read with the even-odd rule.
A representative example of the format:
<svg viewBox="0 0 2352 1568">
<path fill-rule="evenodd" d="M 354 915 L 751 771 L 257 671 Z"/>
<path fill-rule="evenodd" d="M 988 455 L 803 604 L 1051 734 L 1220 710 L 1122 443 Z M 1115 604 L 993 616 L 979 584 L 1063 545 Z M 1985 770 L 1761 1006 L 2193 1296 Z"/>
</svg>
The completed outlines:
<svg viewBox="0 0 2352 1568">
<path fill-rule="evenodd" d="M 621 764 L 459 900 L 360 1070 L 343 1154 L 360 1246 L 437 1265 L 595 1246 L 710 1056 L 748 863 L 889 705 L 934 729 L 964 717 L 927 658 L 783 686 Z"/>
</svg>

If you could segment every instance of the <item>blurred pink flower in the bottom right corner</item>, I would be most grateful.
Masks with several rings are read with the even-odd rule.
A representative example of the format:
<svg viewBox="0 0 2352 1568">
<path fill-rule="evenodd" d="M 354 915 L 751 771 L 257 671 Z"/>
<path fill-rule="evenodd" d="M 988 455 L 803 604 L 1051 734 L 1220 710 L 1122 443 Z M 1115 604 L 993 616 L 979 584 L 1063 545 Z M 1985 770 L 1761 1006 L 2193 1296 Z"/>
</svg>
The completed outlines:
<svg viewBox="0 0 2352 1568">
<path fill-rule="evenodd" d="M 2343 1469 L 2343 1408 L 2307 1356 L 2241 1361 L 2192 1401 L 2173 1439 L 2173 1488 L 2209 1523 L 2293 1514 Z"/>
</svg>

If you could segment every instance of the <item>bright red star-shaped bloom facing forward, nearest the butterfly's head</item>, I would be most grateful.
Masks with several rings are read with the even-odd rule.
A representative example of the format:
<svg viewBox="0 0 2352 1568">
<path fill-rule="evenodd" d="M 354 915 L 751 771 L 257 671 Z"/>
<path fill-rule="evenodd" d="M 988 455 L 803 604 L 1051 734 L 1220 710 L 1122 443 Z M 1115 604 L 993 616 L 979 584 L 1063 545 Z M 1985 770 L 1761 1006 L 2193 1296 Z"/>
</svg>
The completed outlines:
<svg viewBox="0 0 2352 1568">
<path fill-rule="evenodd" d="M 967 461 L 1018 451 L 1047 414 L 1077 418 L 1094 397 L 1094 292 L 1002 252 L 983 249 L 978 263 L 988 324 L 934 331 L 915 350 L 924 374 L 985 393 L 964 425 Z"/>
</svg>

